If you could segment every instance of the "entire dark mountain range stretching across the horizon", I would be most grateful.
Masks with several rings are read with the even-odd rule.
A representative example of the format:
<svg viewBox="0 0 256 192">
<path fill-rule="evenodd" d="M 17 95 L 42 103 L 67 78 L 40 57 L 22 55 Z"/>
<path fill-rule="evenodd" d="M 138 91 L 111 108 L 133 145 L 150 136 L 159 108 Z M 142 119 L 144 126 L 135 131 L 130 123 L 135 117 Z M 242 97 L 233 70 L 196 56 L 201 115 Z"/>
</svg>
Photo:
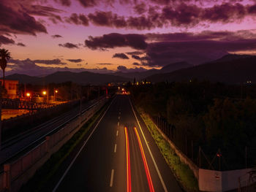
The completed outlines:
<svg viewBox="0 0 256 192">
<path fill-rule="evenodd" d="M 187 62 L 169 64 L 162 69 L 150 69 L 145 72 L 115 72 L 98 74 L 93 72 L 55 72 L 45 77 L 31 77 L 26 74 L 11 74 L 7 80 L 19 80 L 22 83 L 47 84 L 50 82 L 72 81 L 83 85 L 103 85 L 108 82 L 127 82 L 136 80 L 187 81 L 192 79 L 212 82 L 243 83 L 256 82 L 256 56 L 229 54 L 207 64 L 192 66 Z"/>
</svg>

